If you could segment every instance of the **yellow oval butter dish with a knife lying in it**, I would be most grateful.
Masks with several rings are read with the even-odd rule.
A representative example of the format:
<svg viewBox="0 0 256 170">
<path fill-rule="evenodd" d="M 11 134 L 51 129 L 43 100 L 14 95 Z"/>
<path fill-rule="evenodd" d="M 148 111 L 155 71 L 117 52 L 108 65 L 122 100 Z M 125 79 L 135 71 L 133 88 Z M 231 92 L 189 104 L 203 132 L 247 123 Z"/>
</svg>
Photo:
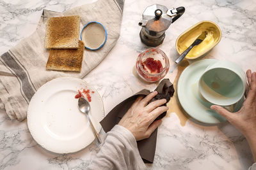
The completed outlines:
<svg viewBox="0 0 256 170">
<path fill-rule="evenodd" d="M 209 52 L 221 39 L 221 30 L 214 22 L 204 20 L 193 25 L 184 31 L 176 40 L 176 50 L 179 55 L 184 52 L 203 31 L 207 31 L 207 36 L 197 46 L 194 46 L 186 55 L 185 59 L 196 59 Z"/>
</svg>

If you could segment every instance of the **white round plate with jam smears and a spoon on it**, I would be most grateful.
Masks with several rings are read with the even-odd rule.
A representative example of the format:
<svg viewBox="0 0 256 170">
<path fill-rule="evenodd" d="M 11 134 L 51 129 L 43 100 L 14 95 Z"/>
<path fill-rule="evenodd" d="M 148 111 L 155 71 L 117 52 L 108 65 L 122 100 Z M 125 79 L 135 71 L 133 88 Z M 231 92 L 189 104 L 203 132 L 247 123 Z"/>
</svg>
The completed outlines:
<svg viewBox="0 0 256 170">
<path fill-rule="evenodd" d="M 28 129 L 35 141 L 55 153 L 77 152 L 95 139 L 86 115 L 79 111 L 77 90 L 89 89 L 90 117 L 97 132 L 104 118 L 98 92 L 79 78 L 56 78 L 40 87 L 28 106 Z M 94 93 L 92 93 L 92 91 Z M 84 96 L 85 97 L 85 96 Z"/>
</svg>

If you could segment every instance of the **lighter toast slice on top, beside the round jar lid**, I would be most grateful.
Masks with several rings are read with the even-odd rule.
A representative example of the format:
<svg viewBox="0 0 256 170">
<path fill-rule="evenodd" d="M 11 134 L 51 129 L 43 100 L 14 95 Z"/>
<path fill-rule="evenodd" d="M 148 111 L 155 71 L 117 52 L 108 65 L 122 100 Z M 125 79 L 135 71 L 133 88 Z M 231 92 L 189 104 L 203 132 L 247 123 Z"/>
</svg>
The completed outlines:
<svg viewBox="0 0 256 170">
<path fill-rule="evenodd" d="M 78 48 L 79 24 L 78 15 L 49 18 L 46 26 L 45 48 Z"/>
</svg>

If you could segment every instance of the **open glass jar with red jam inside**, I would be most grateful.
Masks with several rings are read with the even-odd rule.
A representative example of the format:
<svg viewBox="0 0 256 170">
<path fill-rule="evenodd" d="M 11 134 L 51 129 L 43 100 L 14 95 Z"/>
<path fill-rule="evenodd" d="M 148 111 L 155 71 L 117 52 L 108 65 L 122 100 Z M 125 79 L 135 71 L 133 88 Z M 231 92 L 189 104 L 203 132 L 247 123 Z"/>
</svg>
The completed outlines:
<svg viewBox="0 0 256 170">
<path fill-rule="evenodd" d="M 138 55 L 136 71 L 139 76 L 148 82 L 162 79 L 170 67 L 166 54 L 158 48 L 148 48 Z"/>
</svg>

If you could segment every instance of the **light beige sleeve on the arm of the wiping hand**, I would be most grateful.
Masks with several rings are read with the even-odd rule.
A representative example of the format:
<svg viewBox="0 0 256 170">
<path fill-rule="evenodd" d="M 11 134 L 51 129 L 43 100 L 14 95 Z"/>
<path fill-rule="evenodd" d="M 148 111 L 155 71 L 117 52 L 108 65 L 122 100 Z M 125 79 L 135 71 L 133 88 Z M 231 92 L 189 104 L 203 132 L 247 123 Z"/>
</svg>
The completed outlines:
<svg viewBox="0 0 256 170">
<path fill-rule="evenodd" d="M 115 125 L 88 169 L 146 169 L 130 131 Z"/>
</svg>

